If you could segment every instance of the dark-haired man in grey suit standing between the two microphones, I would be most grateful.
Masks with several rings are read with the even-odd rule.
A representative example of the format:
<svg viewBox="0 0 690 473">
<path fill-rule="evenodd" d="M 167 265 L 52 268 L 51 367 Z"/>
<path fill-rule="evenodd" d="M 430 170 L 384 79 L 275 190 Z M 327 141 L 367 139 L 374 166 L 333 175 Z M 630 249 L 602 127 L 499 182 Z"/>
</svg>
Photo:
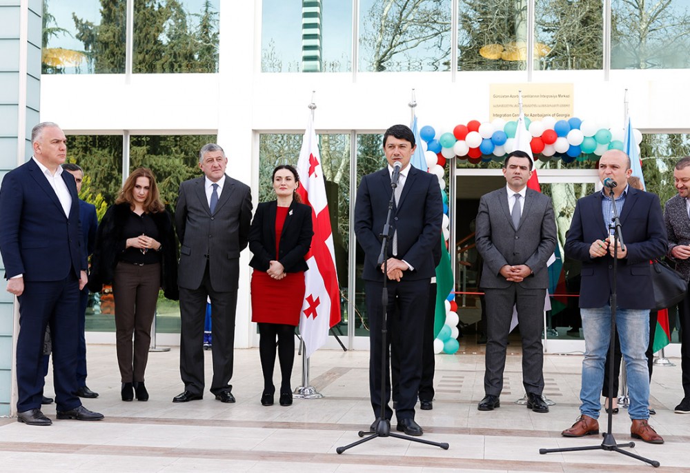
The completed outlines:
<svg viewBox="0 0 690 473">
<path fill-rule="evenodd" d="M 549 286 L 546 261 L 556 245 L 551 199 L 527 188 L 532 160 L 522 151 L 508 155 L 503 165 L 506 188 L 482 196 L 475 241 L 484 259 L 480 287 L 486 294 L 486 371 L 479 410 L 500 407 L 506 346 L 513 306 L 522 336 L 522 383 L 527 407 L 549 412 L 542 399 L 542 328 L 544 299 Z"/>
</svg>

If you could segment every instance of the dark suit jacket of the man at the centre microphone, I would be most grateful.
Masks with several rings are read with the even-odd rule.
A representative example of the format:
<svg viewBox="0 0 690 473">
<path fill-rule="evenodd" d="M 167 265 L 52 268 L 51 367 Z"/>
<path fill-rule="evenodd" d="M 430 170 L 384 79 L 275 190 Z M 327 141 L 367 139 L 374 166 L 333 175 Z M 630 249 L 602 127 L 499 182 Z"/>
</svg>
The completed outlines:
<svg viewBox="0 0 690 473">
<path fill-rule="evenodd" d="M 409 166 L 400 202 L 393 208 L 388 257 L 393 255 L 392 237 L 397 228 L 397 258 L 414 268 L 404 274 L 406 281 L 413 281 L 436 275 L 433 251 L 439 242 L 443 201 L 437 177 Z M 388 167 L 362 177 L 357 189 L 355 234 L 364 249 L 362 278 L 366 281 L 384 278 L 377 261 L 381 252 L 379 234 L 386 223 L 392 192 Z"/>
</svg>

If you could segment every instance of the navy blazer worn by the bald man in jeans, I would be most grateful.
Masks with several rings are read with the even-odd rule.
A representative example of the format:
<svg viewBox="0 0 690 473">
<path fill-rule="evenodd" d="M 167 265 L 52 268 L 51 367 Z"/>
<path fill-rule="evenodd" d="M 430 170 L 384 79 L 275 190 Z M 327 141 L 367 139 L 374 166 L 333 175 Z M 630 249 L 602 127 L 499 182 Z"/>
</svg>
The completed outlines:
<svg viewBox="0 0 690 473">
<path fill-rule="evenodd" d="M 649 276 L 649 260 L 667 252 L 667 236 L 661 204 L 656 194 L 628 186 L 620 212 L 623 243 L 628 256 L 618 260 L 618 306 L 622 309 L 651 309 L 654 294 Z M 600 308 L 609 303 L 613 283 L 610 254 L 592 259 L 593 241 L 606 239 L 610 222 L 604 223 L 602 193 L 594 192 L 578 200 L 565 243 L 569 258 L 582 261 L 580 308 Z"/>
</svg>

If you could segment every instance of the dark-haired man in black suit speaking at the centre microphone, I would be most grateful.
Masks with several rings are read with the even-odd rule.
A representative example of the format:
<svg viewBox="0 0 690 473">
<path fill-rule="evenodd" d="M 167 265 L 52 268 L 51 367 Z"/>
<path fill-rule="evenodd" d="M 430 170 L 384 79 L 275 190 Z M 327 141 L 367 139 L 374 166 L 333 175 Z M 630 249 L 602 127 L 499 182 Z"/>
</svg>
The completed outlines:
<svg viewBox="0 0 690 473">
<path fill-rule="evenodd" d="M 415 136 L 405 125 L 394 125 L 384 134 L 387 168 L 362 178 L 355 203 L 355 234 L 364 249 L 366 311 L 369 317 L 370 359 L 369 391 L 375 416 L 385 406 L 385 419 L 393 416 L 388 401 L 391 398 L 390 371 L 383 373 L 382 357 L 389 366 L 388 345 L 397 343 L 400 356 L 400 393 L 395 416 L 397 430 L 408 435 L 422 435 L 422 427 L 415 422 L 415 404 L 422 376 L 422 344 L 424 318 L 428 301 L 428 286 L 435 276 L 433 245 L 439 244 L 443 203 L 438 179 L 433 174 L 417 170 L 410 164 L 415 150 Z M 381 252 L 380 232 L 384 229 L 391 200 L 391 176 L 400 163 L 400 180 L 395 192 L 395 205 L 388 244 L 387 272 L 378 262 Z M 388 278 L 388 333 L 382 352 L 384 308 L 381 303 L 384 277 Z M 382 377 L 386 392 L 381 398 Z"/>
</svg>

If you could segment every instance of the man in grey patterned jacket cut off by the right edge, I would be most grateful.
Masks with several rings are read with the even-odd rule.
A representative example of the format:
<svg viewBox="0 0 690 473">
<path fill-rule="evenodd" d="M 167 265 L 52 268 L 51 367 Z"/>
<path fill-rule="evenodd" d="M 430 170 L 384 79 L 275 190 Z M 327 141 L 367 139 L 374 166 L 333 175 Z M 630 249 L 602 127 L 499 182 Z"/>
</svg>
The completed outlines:
<svg viewBox="0 0 690 473">
<path fill-rule="evenodd" d="M 673 169 L 673 181 L 678 194 L 671 197 L 664 210 L 664 222 L 669 235 L 667 256 L 676 261 L 676 269 L 690 279 L 690 156 Z M 690 292 L 678 304 L 680 316 L 680 366 L 682 369 L 683 399 L 676 406 L 676 414 L 690 414 Z"/>
</svg>

